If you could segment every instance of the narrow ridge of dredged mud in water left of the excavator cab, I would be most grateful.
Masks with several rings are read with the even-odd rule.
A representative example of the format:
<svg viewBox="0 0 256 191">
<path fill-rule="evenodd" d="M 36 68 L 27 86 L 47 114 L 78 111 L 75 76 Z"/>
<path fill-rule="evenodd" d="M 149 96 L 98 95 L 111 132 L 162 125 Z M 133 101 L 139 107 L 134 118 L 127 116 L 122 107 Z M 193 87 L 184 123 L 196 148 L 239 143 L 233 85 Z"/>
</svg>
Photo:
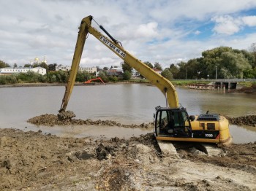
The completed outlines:
<svg viewBox="0 0 256 191">
<path fill-rule="evenodd" d="M 73 115 L 63 116 L 63 115 L 55 115 L 55 114 L 42 114 L 37 117 L 33 117 L 28 120 L 34 125 L 108 125 L 108 126 L 118 126 L 123 128 L 152 128 L 153 123 L 142 123 L 140 125 L 124 125 L 116 121 L 111 120 L 80 120 L 80 119 L 72 119 Z"/>
</svg>

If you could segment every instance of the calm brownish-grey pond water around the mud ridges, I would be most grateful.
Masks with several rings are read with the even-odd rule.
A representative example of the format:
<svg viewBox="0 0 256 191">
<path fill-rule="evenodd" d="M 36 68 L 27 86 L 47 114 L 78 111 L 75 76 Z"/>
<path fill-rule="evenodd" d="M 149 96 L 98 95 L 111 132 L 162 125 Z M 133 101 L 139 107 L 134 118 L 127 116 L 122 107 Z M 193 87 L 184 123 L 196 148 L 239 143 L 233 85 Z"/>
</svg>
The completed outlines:
<svg viewBox="0 0 256 191">
<path fill-rule="evenodd" d="M 256 114 L 256 96 L 177 88 L 179 102 L 189 114 L 209 112 L 230 117 Z M 1 87 L 0 128 L 42 130 L 59 136 L 125 137 L 151 130 L 118 127 L 44 127 L 26 122 L 41 114 L 57 114 L 64 87 Z M 165 106 L 165 98 L 157 87 L 148 85 L 97 85 L 74 87 L 67 107 L 79 119 L 116 120 L 124 124 L 151 122 L 155 106 Z M 236 143 L 256 141 L 256 128 L 230 126 Z"/>
</svg>

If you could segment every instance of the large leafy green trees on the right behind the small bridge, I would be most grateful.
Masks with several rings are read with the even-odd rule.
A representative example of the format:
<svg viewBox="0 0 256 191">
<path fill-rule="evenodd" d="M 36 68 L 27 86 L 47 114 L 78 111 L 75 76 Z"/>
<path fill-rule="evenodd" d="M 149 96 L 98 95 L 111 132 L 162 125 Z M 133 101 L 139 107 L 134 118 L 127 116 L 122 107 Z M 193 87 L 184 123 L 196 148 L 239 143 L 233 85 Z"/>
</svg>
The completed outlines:
<svg viewBox="0 0 256 191">
<path fill-rule="evenodd" d="M 202 52 L 202 57 L 170 64 L 162 71 L 167 79 L 256 78 L 256 44 L 247 50 L 217 47 Z"/>
</svg>

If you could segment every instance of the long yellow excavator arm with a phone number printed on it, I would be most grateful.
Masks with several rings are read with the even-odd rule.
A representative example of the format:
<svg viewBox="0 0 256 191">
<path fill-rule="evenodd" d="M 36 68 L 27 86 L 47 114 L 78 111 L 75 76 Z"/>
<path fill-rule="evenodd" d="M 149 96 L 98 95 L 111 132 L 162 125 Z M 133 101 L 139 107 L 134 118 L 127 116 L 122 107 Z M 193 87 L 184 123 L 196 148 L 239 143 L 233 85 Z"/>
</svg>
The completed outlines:
<svg viewBox="0 0 256 191">
<path fill-rule="evenodd" d="M 125 63 L 129 64 L 129 66 L 132 66 L 132 68 L 137 70 L 141 75 L 143 75 L 143 77 L 148 79 L 151 84 L 156 85 L 159 90 L 161 90 L 161 92 L 165 95 L 167 106 L 169 106 L 170 108 L 178 108 L 178 95 L 173 84 L 169 80 L 165 79 L 165 77 L 162 77 L 162 75 L 158 74 L 153 69 L 148 67 L 145 63 L 138 60 L 138 58 L 135 58 L 133 55 L 127 52 L 127 50 L 124 50 L 124 48 L 120 44 L 118 44 L 118 41 L 116 41 L 116 39 L 113 39 L 113 37 L 110 36 L 110 34 L 108 34 L 108 32 L 105 31 L 102 26 L 99 27 L 102 28 L 103 31 L 105 31 L 110 39 L 97 31 L 96 28 L 92 27 L 92 18 L 92 16 L 88 16 L 83 18 L 83 20 L 81 21 L 78 32 L 78 39 L 75 46 L 75 53 L 69 73 L 69 79 L 59 112 L 65 112 L 67 108 L 67 104 L 75 84 L 75 77 L 78 73 L 78 66 L 83 52 L 83 47 L 88 34 L 93 35 L 96 39 L 99 40 L 99 42 L 102 42 L 102 44 L 104 44 L 106 47 L 112 50 L 112 52 L 118 55 Z"/>
</svg>

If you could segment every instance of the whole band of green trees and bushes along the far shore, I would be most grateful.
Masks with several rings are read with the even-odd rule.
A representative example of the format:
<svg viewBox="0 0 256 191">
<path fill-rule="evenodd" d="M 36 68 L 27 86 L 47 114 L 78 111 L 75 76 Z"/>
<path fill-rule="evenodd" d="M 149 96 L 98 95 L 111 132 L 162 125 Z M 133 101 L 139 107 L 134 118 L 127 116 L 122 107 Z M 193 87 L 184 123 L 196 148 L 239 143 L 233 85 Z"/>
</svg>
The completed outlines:
<svg viewBox="0 0 256 191">
<path fill-rule="evenodd" d="M 193 58 L 187 62 L 171 63 L 169 67 L 162 70 L 160 63 L 149 61 L 144 62 L 148 67 L 162 71 L 162 76 L 167 79 L 230 79 L 230 78 L 256 78 L 256 43 L 253 43 L 249 50 L 237 50 L 232 47 L 217 47 L 202 52 L 200 58 Z M 18 73 L 12 75 L 0 75 L 0 85 L 14 83 L 36 83 L 36 82 L 67 82 L 68 71 L 55 71 L 56 63 L 26 64 L 24 67 L 40 66 L 47 70 L 44 76 L 34 73 Z M 128 80 L 132 77 L 132 67 L 127 63 L 121 63 L 124 74 L 122 76 L 109 76 L 108 68 L 98 68 L 98 77 L 104 82 L 117 82 Z M 0 61 L 0 68 L 10 67 L 8 63 Z M 17 67 L 15 63 L 14 67 Z M 93 79 L 96 74 L 89 74 L 87 71 L 78 71 L 76 82 L 85 82 Z"/>
</svg>

